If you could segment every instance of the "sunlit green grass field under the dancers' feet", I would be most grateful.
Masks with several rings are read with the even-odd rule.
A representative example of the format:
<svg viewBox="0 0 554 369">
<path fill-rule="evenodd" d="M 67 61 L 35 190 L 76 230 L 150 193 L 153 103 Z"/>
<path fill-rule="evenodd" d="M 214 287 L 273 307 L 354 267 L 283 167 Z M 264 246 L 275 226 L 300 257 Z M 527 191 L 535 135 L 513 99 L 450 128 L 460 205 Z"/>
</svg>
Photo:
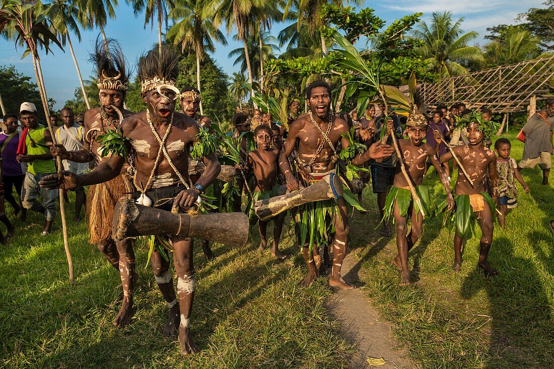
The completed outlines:
<svg viewBox="0 0 554 369">
<path fill-rule="evenodd" d="M 519 160 L 522 144 L 510 138 L 512 157 Z M 523 176 L 531 193 L 520 191 L 505 231 L 495 228 L 490 262 L 499 276 L 486 279 L 475 271 L 479 227 L 466 243 L 462 271 L 454 273 L 454 234 L 434 218 L 410 254 L 417 283 L 407 288 L 398 286 L 389 263 L 396 243 L 377 235 L 376 201 L 366 189 L 371 211 L 351 219 L 351 253 L 359 260 L 351 273 L 359 273 L 399 345 L 419 366 L 552 367 L 554 239 L 546 227 L 554 219 L 554 189 L 540 185 L 538 169 Z M 444 197 L 434 171 L 426 182 Z M 197 248 L 192 330 L 202 351 L 181 357 L 178 342 L 161 336 L 167 306 L 145 269 L 144 249 L 137 250 L 134 319 L 117 329 L 112 320 L 122 297 L 119 275 L 88 244 L 85 224 L 70 224 L 71 287 L 61 232 L 41 237 L 37 214 L 27 224 L 15 223 L 16 237 L 0 247 L 0 367 L 338 368 L 353 350 L 325 311 L 326 280 L 300 286 L 306 269 L 288 227 L 281 248 L 293 257 L 283 263 L 269 250 L 260 257 L 257 227 L 245 248 L 216 245 L 213 262 Z"/>
</svg>

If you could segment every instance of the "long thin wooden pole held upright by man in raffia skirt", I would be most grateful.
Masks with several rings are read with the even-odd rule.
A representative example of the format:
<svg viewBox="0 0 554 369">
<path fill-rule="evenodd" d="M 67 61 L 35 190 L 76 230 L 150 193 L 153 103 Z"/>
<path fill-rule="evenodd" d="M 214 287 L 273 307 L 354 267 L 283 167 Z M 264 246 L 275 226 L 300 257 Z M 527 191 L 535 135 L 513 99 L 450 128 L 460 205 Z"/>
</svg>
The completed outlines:
<svg viewBox="0 0 554 369">
<path fill-rule="evenodd" d="M 54 132 L 54 128 L 52 126 L 52 121 L 50 121 L 50 114 L 48 110 L 48 98 L 46 95 L 46 90 L 44 89 L 44 83 L 42 78 L 42 69 L 40 68 L 40 60 L 38 59 L 37 54 L 35 52 L 33 53 L 33 66 L 35 70 L 35 74 L 37 76 L 37 83 L 39 86 L 39 93 L 40 93 L 40 99 L 42 100 L 42 105 L 44 108 L 44 113 L 46 115 L 46 121 L 48 123 L 48 130 L 50 131 L 50 135 L 52 136 L 52 142 L 54 145 L 56 142 L 56 136 Z M 61 178 L 61 170 L 63 168 L 61 164 L 61 158 L 59 156 L 56 157 L 56 163 L 58 164 L 58 176 Z M 65 249 L 65 256 L 68 260 L 68 267 L 69 267 L 69 283 L 74 286 L 75 285 L 75 275 L 73 272 L 73 258 L 71 257 L 71 252 L 69 250 L 69 239 L 68 239 L 68 231 L 67 231 L 67 225 L 65 224 L 65 204 L 64 204 L 64 198 L 63 198 L 63 189 L 59 189 L 59 197 L 60 197 L 60 216 L 61 216 L 61 229 L 63 232 L 64 237 L 64 249 Z"/>
</svg>

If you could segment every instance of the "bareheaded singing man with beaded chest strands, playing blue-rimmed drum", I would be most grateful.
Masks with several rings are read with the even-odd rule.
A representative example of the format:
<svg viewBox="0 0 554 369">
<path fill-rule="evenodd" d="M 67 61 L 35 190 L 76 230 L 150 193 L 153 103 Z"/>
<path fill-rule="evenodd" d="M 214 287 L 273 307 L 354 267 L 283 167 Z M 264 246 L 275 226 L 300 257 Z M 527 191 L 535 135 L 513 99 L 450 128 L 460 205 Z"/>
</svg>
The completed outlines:
<svg viewBox="0 0 554 369">
<path fill-rule="evenodd" d="M 349 132 L 348 124 L 331 112 L 331 88 L 327 83 L 315 81 L 307 86 L 306 102 L 309 112 L 301 115 L 289 127 L 289 135 L 279 158 L 279 165 L 285 175 L 286 187 L 289 191 L 299 189 L 299 180 L 305 186 L 309 186 L 336 172 L 336 162 L 338 161 L 336 146 L 340 142 L 342 150 L 346 150 L 351 144 L 346 137 L 342 136 Z M 366 131 L 361 130 L 360 134 L 364 139 Z M 379 145 L 380 143 L 376 142 L 365 152 L 358 153 L 352 160 L 353 165 L 362 165 L 370 158 L 391 156 L 393 149 L 388 145 Z M 299 179 L 295 178 L 289 162 L 289 157 L 296 145 L 298 145 L 296 167 Z M 329 242 L 331 230 L 334 228 L 333 264 L 329 285 L 342 289 L 353 288 L 342 280 L 340 274 L 342 260 L 346 256 L 348 246 L 348 233 L 350 233 L 347 208 L 345 199 L 338 198 L 329 202 L 307 203 L 297 212 L 296 222 L 299 229 L 297 237 L 302 249 L 302 257 L 308 266 L 304 285 L 312 284 L 314 279 L 319 276 L 316 258 L 312 257 L 311 247 L 305 244 L 305 240 L 311 238 L 310 244 L 313 246 L 313 252 L 319 256 L 317 248 Z M 311 216 L 305 217 L 304 214 L 308 214 L 308 212 Z M 310 219 L 314 220 L 310 222 Z M 310 238 L 306 238 L 307 234 L 302 229 L 312 229 L 313 234 Z"/>
</svg>

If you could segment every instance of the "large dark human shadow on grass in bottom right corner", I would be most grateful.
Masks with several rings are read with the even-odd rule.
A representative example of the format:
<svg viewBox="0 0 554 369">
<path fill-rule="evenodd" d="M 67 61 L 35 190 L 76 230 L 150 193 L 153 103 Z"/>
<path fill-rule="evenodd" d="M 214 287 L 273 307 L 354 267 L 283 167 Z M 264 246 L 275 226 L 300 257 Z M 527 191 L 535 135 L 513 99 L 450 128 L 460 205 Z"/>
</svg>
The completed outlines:
<svg viewBox="0 0 554 369">
<path fill-rule="evenodd" d="M 516 256 L 509 238 L 497 238 L 494 244 L 497 254 L 503 255 L 496 258 L 500 274 L 487 279 L 474 270 L 460 289 L 464 299 L 473 298 L 481 289 L 488 295 L 490 346 L 484 368 L 550 367 L 554 355 L 552 307 L 536 266 Z"/>
</svg>

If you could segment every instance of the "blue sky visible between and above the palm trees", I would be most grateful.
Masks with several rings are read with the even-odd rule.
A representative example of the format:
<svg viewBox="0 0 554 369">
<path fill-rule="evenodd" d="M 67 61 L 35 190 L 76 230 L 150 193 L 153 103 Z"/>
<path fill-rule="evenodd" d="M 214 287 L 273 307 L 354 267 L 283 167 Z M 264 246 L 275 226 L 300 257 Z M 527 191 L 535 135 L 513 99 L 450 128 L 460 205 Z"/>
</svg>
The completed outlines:
<svg viewBox="0 0 554 369">
<path fill-rule="evenodd" d="M 463 30 L 468 32 L 475 30 L 479 33 L 477 43 L 483 44 L 483 37 L 487 34 L 486 28 L 497 24 L 515 24 L 517 14 L 527 11 L 532 7 L 540 8 L 544 0 L 375 0 L 366 1 L 365 7 L 375 9 L 377 16 L 390 24 L 394 19 L 414 12 L 424 13 L 423 20 L 427 20 L 434 11 L 451 11 L 454 17 L 464 18 Z M 111 19 L 105 28 L 108 37 L 115 38 L 121 43 L 131 69 L 136 69 L 136 60 L 140 54 L 152 47 L 157 42 L 157 27 L 152 30 L 150 25 L 145 29 L 144 18 L 141 15 L 136 18 L 132 9 L 123 1 L 120 1 L 117 9 L 117 18 Z M 275 24 L 272 33 L 276 35 L 283 24 Z M 78 59 L 83 78 L 88 79 L 92 73 L 92 66 L 88 62 L 88 54 L 99 30 L 81 32 L 81 42 L 78 43 L 73 36 L 73 47 Z M 227 46 L 217 45 L 213 57 L 223 68 L 225 73 L 232 75 L 238 71 L 239 66 L 233 66 L 233 59 L 228 58 L 230 50 L 241 47 L 233 41 L 232 35 L 227 37 Z M 11 42 L 0 40 L 0 65 L 13 64 L 16 69 L 35 80 L 33 63 L 30 57 L 21 59 L 23 49 L 16 49 Z M 73 98 L 75 87 L 79 80 L 75 72 L 75 66 L 71 59 L 69 49 L 64 53 L 54 49 L 54 54 L 42 55 L 42 69 L 44 83 L 49 98 L 53 98 L 57 104 L 56 109 L 61 109 L 66 100 Z M 0 87 L 1 88 L 1 87 Z"/>
</svg>

